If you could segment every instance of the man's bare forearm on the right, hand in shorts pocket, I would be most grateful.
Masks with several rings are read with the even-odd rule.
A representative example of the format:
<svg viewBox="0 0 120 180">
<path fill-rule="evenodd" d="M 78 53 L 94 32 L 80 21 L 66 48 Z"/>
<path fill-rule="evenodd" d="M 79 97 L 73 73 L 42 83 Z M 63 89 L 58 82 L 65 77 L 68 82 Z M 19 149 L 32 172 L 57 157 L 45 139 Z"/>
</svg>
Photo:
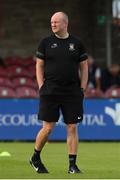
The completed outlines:
<svg viewBox="0 0 120 180">
<path fill-rule="evenodd" d="M 80 62 L 80 77 L 81 77 L 81 88 L 86 90 L 88 82 L 88 59 Z"/>
</svg>

